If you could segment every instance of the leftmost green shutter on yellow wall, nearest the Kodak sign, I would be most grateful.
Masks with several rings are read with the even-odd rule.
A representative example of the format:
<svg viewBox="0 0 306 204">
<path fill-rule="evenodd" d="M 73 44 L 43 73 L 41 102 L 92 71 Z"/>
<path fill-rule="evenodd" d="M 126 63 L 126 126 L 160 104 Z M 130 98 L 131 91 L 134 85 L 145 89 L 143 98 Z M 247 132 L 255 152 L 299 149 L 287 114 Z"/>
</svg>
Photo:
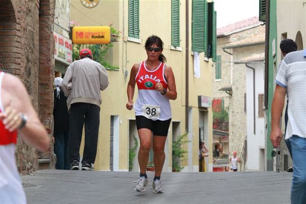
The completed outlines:
<svg viewBox="0 0 306 204">
<path fill-rule="evenodd" d="M 139 0 L 129 0 L 129 37 L 139 38 Z"/>
</svg>

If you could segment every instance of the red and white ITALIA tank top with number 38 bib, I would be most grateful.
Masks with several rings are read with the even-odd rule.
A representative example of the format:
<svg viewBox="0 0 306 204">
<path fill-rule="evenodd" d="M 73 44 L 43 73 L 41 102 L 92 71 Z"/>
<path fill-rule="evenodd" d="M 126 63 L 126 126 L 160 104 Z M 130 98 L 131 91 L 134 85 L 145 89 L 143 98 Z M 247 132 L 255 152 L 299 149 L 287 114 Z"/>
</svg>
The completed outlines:
<svg viewBox="0 0 306 204">
<path fill-rule="evenodd" d="M 171 119 L 169 99 L 155 90 L 156 83 L 161 83 L 163 88 L 168 89 L 167 80 L 164 78 L 165 66 L 166 64 L 160 62 L 156 69 L 151 71 L 147 69 L 146 61 L 140 63 L 135 77 L 138 87 L 138 97 L 134 105 L 136 116 L 161 121 Z"/>
</svg>

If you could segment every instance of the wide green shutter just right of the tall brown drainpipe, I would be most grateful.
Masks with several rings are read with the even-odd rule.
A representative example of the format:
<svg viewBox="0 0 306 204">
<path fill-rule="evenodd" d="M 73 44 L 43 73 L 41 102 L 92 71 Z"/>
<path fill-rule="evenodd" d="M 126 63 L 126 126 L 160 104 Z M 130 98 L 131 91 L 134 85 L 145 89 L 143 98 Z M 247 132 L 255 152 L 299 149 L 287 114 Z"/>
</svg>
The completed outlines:
<svg viewBox="0 0 306 204">
<path fill-rule="evenodd" d="M 206 0 L 192 1 L 192 51 L 205 52 L 206 24 L 205 20 Z"/>
</svg>

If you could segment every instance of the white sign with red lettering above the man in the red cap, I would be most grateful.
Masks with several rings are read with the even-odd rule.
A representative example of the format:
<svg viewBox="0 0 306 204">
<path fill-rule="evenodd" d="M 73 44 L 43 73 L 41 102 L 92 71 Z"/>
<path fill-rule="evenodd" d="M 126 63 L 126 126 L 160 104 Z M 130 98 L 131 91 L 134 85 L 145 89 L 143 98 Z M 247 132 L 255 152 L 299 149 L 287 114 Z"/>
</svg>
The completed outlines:
<svg viewBox="0 0 306 204">
<path fill-rule="evenodd" d="M 58 33 L 53 32 L 55 41 L 54 58 L 64 64 L 72 63 L 72 41 Z"/>
</svg>

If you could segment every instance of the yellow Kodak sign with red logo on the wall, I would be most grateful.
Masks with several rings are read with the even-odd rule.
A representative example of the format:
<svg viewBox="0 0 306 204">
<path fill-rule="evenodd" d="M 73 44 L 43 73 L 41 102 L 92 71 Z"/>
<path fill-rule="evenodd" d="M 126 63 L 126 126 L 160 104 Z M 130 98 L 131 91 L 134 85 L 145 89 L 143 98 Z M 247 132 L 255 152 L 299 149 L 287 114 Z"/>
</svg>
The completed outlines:
<svg viewBox="0 0 306 204">
<path fill-rule="evenodd" d="M 108 26 L 76 26 L 72 29 L 74 44 L 108 44 L 110 43 L 110 27 Z"/>
</svg>

